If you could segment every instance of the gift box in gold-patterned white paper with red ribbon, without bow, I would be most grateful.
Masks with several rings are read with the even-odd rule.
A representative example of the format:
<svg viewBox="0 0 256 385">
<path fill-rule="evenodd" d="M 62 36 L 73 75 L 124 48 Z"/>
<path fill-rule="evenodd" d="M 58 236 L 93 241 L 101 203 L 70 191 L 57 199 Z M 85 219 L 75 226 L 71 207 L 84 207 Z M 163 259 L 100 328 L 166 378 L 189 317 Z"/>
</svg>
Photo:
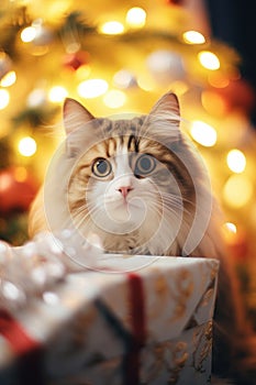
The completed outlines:
<svg viewBox="0 0 256 385">
<path fill-rule="evenodd" d="M 0 384 L 211 383 L 219 262 L 104 255 L 0 312 Z"/>
</svg>

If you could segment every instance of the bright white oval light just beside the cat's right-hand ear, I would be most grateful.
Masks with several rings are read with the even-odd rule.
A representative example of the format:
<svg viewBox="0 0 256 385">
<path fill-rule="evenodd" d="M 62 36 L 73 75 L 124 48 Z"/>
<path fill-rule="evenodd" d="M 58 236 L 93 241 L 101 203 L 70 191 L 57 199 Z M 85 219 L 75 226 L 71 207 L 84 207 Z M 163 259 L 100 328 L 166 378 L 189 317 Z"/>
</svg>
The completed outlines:
<svg viewBox="0 0 256 385">
<path fill-rule="evenodd" d="M 190 134 L 196 142 L 205 147 L 211 147 L 216 143 L 216 131 L 200 120 L 192 122 Z"/>
</svg>

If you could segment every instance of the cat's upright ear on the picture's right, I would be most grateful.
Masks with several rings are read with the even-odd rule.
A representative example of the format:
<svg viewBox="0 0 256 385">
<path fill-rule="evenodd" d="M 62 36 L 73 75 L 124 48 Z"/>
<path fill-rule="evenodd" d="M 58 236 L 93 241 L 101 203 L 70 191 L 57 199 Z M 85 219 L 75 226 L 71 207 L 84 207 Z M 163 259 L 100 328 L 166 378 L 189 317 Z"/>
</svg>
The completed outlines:
<svg viewBox="0 0 256 385">
<path fill-rule="evenodd" d="M 179 127 L 180 109 L 179 101 L 175 94 L 165 94 L 153 107 L 149 117 L 156 120 L 166 120 L 172 125 Z"/>
</svg>

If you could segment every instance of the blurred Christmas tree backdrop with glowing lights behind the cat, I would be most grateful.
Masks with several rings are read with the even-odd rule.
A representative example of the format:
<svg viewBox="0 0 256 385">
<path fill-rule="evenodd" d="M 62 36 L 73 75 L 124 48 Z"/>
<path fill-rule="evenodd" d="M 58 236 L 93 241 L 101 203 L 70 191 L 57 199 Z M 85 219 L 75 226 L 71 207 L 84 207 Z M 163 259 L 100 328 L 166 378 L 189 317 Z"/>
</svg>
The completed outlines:
<svg viewBox="0 0 256 385">
<path fill-rule="evenodd" d="M 0 239 L 27 240 L 29 207 L 64 139 L 67 96 L 100 117 L 147 113 L 171 89 L 223 207 L 222 231 L 256 326 L 253 6 L 1 0 Z"/>
</svg>

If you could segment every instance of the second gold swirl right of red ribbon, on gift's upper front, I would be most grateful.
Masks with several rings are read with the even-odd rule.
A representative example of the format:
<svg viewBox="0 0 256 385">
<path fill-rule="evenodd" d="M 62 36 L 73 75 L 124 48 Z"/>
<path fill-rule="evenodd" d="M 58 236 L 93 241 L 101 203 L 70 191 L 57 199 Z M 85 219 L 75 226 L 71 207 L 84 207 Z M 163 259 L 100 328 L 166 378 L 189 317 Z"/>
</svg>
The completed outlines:
<svg viewBox="0 0 256 385">
<path fill-rule="evenodd" d="M 175 292 L 171 293 L 171 296 L 176 302 L 176 308 L 170 322 L 176 322 L 185 316 L 188 299 L 193 293 L 193 276 L 188 270 L 182 268 L 177 273 L 174 284 Z"/>
</svg>

